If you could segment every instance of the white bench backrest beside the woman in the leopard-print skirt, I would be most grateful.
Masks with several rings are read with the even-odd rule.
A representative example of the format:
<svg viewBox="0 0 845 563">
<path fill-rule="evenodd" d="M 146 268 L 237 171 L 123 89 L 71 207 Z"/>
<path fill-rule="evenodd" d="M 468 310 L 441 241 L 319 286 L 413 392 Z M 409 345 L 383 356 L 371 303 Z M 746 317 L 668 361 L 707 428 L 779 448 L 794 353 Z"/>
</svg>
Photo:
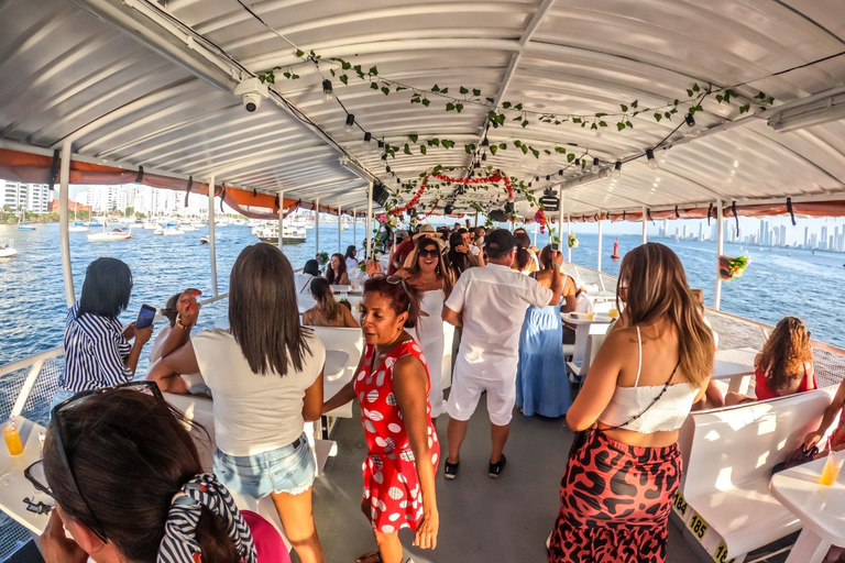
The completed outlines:
<svg viewBox="0 0 845 563">
<path fill-rule="evenodd" d="M 836 387 L 692 412 L 678 443 L 687 498 L 768 481 L 772 467 L 819 427 Z"/>
</svg>

